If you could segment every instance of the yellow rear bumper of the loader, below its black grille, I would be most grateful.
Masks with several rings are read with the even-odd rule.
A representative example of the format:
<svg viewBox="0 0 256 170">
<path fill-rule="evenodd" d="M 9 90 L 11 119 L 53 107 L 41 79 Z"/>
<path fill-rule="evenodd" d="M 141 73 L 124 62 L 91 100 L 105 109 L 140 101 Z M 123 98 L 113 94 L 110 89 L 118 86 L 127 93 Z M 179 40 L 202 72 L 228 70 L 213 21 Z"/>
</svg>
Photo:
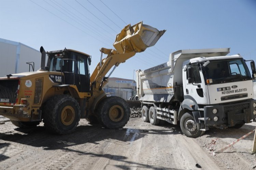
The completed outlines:
<svg viewBox="0 0 256 170">
<path fill-rule="evenodd" d="M 30 113 L 29 107 L 23 104 L 12 107 L 0 106 L 0 115 L 15 121 L 29 121 L 31 117 Z"/>
</svg>

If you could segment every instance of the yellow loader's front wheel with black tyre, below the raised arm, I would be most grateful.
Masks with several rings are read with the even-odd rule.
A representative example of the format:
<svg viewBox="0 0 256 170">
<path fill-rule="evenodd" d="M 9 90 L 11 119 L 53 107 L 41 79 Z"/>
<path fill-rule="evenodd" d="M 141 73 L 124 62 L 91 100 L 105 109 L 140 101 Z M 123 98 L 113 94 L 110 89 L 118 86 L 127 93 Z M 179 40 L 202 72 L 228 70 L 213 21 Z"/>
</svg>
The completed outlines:
<svg viewBox="0 0 256 170">
<path fill-rule="evenodd" d="M 98 108 L 103 126 L 109 129 L 124 127 L 130 118 L 130 108 L 120 97 L 107 97 L 100 102 Z"/>
</svg>

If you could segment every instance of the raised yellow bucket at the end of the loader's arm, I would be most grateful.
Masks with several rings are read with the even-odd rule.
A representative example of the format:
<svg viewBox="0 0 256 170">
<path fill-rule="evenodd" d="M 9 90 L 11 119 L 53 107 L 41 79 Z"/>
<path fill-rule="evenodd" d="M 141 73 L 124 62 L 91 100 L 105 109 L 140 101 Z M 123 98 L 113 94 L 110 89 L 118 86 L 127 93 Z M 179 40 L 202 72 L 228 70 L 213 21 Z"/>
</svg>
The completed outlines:
<svg viewBox="0 0 256 170">
<path fill-rule="evenodd" d="M 126 26 L 119 34 L 113 46 L 120 54 L 135 51 L 142 52 L 146 48 L 154 46 L 166 30 L 158 31 L 156 28 L 141 22 Z"/>
</svg>

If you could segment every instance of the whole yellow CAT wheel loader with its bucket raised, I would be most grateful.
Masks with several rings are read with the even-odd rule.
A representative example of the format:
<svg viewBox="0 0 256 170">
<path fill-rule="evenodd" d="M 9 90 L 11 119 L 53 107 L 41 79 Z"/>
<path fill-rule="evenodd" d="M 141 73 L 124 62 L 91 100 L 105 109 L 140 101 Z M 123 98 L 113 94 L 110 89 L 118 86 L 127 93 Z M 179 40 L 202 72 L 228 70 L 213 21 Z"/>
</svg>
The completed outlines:
<svg viewBox="0 0 256 170">
<path fill-rule="evenodd" d="M 105 75 L 112 66 L 111 73 L 137 52 L 154 46 L 163 33 L 165 30 L 142 22 L 129 24 L 117 34 L 115 49 L 100 49 L 100 62 L 91 75 L 90 55 L 66 48 L 45 52 L 41 47 L 38 71 L 0 78 L 0 115 L 19 128 L 35 127 L 43 121 L 45 128 L 56 134 L 73 132 L 80 118 L 109 129 L 122 128 L 129 120 L 130 108 L 122 98 L 106 97 L 102 87 L 110 75 Z M 102 54 L 107 56 L 102 58 Z"/>
</svg>

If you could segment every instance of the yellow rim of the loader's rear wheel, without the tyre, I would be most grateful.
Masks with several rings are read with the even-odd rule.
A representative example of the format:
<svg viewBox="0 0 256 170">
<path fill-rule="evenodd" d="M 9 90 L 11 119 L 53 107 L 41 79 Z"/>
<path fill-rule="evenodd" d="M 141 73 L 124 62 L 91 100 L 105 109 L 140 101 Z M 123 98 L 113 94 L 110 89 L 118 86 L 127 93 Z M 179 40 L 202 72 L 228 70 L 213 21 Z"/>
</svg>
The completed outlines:
<svg viewBox="0 0 256 170">
<path fill-rule="evenodd" d="M 75 110 L 71 106 L 66 106 L 62 109 L 61 114 L 60 114 L 60 120 L 61 122 L 68 126 L 73 123 L 75 119 Z"/>
</svg>

